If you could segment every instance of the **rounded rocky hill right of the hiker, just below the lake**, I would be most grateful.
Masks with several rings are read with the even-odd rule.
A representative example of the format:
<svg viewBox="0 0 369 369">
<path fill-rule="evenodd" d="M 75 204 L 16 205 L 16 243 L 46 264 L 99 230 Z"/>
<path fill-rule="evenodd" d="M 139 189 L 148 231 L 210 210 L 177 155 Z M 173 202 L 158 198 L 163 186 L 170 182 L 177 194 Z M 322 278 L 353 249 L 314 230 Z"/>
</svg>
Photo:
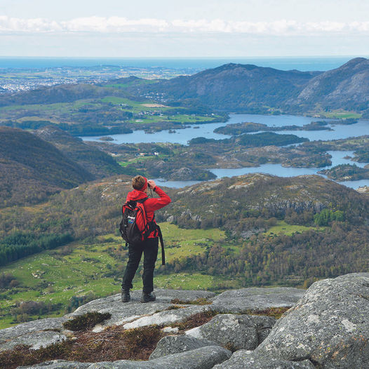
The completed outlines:
<svg viewBox="0 0 369 369">
<path fill-rule="evenodd" d="M 211 224 L 235 231 L 253 229 L 250 219 L 257 217 L 286 219 L 293 215 L 297 224 L 308 224 L 323 208 L 342 210 L 346 220 L 358 224 L 369 216 L 369 199 L 318 175 L 276 177 L 255 173 L 176 192 L 170 215 L 182 227 Z"/>
</svg>

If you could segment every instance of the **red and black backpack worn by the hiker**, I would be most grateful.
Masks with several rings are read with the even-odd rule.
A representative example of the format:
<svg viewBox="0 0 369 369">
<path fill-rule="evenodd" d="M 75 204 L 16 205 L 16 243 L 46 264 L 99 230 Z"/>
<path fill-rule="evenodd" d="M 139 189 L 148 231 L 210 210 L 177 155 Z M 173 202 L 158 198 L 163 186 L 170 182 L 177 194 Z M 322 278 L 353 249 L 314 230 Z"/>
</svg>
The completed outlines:
<svg viewBox="0 0 369 369">
<path fill-rule="evenodd" d="M 123 203 L 123 216 L 119 224 L 119 232 L 121 232 L 123 240 L 126 241 L 126 246 L 128 246 L 128 243 L 134 246 L 145 241 L 149 234 L 157 230 L 161 243 L 161 264 L 165 265 L 166 256 L 164 253 L 164 242 L 161 229 L 159 225 L 154 222 L 155 217 L 153 217 L 151 222 L 147 222 L 146 211 L 143 205 L 147 199 L 148 197 L 142 200 L 130 200 Z"/>
</svg>

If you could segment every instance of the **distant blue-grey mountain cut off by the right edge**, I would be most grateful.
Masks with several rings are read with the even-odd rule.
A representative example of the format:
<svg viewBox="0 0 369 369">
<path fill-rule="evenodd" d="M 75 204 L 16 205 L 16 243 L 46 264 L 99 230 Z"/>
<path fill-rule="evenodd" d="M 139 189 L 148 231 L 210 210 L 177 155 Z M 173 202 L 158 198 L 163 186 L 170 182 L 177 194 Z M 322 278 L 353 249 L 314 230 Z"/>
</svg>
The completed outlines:
<svg viewBox="0 0 369 369">
<path fill-rule="evenodd" d="M 369 59 L 355 58 L 337 69 L 318 74 L 287 105 L 300 111 L 320 106 L 368 114 Z"/>
</svg>

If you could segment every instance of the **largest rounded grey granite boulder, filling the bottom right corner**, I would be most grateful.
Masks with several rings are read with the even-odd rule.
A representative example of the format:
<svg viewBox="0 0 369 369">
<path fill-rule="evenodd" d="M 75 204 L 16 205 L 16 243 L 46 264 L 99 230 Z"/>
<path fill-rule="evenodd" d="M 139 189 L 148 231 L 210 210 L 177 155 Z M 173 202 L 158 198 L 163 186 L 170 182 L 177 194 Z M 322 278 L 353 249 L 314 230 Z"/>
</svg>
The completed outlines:
<svg viewBox="0 0 369 369">
<path fill-rule="evenodd" d="M 314 283 L 257 348 L 318 368 L 369 368 L 369 273 Z"/>
</svg>

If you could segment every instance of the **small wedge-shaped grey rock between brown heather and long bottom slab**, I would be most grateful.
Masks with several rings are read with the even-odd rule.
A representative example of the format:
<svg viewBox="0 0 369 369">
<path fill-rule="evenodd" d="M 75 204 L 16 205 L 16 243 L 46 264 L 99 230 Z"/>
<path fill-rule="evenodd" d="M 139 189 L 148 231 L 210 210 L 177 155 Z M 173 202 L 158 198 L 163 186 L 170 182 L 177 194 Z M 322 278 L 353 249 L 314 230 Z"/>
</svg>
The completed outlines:
<svg viewBox="0 0 369 369">
<path fill-rule="evenodd" d="M 150 360 L 206 346 L 217 346 L 217 344 L 208 340 L 199 340 L 189 335 L 170 335 L 163 337 L 158 344 L 156 344 L 156 348 L 150 355 Z"/>
</svg>

